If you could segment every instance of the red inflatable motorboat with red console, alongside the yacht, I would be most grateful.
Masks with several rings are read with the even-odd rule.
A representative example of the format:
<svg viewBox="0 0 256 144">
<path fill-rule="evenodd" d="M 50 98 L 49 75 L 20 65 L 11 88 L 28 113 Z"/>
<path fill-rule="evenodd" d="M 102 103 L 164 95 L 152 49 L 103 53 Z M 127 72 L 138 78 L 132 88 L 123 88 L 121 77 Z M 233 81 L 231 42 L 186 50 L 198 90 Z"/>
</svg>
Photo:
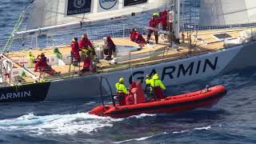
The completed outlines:
<svg viewBox="0 0 256 144">
<path fill-rule="evenodd" d="M 89 113 L 98 116 L 110 116 L 112 118 L 123 118 L 143 113 L 177 113 L 199 107 L 213 106 L 225 94 L 226 88 L 219 85 L 187 94 L 168 96 L 162 100 L 152 98 L 150 102 L 146 102 L 141 85 L 133 83 L 130 87 L 130 97 L 134 97 L 134 103 L 126 104 L 126 106 L 118 106 L 118 104 L 114 104 L 115 106 L 96 106 Z"/>
</svg>

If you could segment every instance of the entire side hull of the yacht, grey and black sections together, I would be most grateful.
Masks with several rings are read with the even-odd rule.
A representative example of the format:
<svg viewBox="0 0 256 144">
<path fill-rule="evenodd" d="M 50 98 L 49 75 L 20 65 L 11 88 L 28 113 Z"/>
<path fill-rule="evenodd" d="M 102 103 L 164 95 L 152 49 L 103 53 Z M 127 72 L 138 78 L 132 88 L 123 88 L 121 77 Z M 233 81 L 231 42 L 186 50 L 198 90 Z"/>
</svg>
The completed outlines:
<svg viewBox="0 0 256 144">
<path fill-rule="evenodd" d="M 129 82 L 140 81 L 146 74 L 157 72 L 166 86 L 174 86 L 204 78 L 214 77 L 232 70 L 256 66 L 256 42 L 233 46 L 226 50 L 182 58 L 172 62 L 162 62 L 151 66 L 142 66 L 132 70 L 120 70 L 103 74 L 110 82 L 115 93 L 114 84 L 118 78 Z M 133 75 L 133 77 L 131 76 Z M 64 99 L 98 98 L 100 96 L 101 74 L 84 77 L 65 78 L 52 82 L 39 82 L 22 86 L 0 88 L 0 102 L 38 102 L 43 100 L 61 101 Z M 109 86 L 102 82 L 102 93 L 110 94 Z"/>
</svg>

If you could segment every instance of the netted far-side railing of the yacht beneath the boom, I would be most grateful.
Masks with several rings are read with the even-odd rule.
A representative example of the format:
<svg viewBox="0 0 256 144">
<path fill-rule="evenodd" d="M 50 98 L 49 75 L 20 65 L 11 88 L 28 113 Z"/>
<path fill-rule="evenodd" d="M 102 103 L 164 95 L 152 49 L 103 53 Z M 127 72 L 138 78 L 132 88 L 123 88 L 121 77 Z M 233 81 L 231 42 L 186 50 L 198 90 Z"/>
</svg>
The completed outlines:
<svg viewBox="0 0 256 144">
<path fill-rule="evenodd" d="M 14 38 L 10 46 L 6 46 L 6 51 L 18 51 L 29 49 L 44 49 L 51 46 L 70 45 L 72 38 L 81 38 L 82 34 L 87 34 L 91 41 L 102 40 L 107 35 L 112 38 L 128 38 L 130 30 L 136 28 L 140 34 L 146 34 L 143 26 L 131 26 L 129 24 L 110 25 L 110 26 L 90 26 L 78 30 L 60 30 L 58 32 L 39 35 L 30 38 Z M 0 40 L 0 47 L 6 45 L 8 39 Z"/>
</svg>

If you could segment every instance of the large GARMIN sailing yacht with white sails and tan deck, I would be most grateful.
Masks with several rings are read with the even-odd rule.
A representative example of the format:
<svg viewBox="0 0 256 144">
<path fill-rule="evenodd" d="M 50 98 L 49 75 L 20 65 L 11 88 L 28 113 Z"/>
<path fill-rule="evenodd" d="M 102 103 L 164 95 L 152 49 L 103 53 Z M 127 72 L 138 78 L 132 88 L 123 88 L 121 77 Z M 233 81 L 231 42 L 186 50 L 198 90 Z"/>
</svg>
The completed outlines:
<svg viewBox="0 0 256 144">
<path fill-rule="evenodd" d="M 97 97 L 114 92 L 114 83 L 121 77 L 129 85 L 143 82 L 146 74 L 158 73 L 166 86 L 173 86 L 256 65 L 256 2 L 201 0 L 199 20 L 193 28 L 180 22 L 183 6 L 182 0 L 35 0 L 22 12 L 2 47 L 0 102 Z M 166 9 L 173 25 L 170 31 L 132 20 Z M 120 21 L 127 24 L 118 24 Z M 158 44 L 139 46 L 130 41 L 133 28 L 143 35 L 149 29 L 156 30 L 163 39 Z M 70 39 L 84 33 L 94 40 L 98 70 L 81 76 L 81 67 L 70 62 Z M 106 35 L 117 45 L 114 62 L 102 58 Z M 64 66 L 58 66 L 55 48 L 62 53 Z M 29 52 L 44 53 L 48 64 L 60 74 L 34 72 Z M 107 82 L 102 82 L 102 77 Z"/>
</svg>

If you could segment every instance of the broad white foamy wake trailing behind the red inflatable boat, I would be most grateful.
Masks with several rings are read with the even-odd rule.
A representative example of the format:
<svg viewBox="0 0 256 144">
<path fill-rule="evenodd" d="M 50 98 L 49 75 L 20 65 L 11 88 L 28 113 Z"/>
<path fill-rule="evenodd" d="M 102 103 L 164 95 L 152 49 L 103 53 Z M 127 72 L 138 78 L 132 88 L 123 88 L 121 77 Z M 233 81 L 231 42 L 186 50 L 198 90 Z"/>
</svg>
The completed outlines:
<svg viewBox="0 0 256 144">
<path fill-rule="evenodd" d="M 26 114 L 19 118 L 0 120 L 0 130 L 23 130 L 25 133 L 37 135 L 77 134 L 79 132 L 91 134 L 102 127 L 113 126 L 113 122 L 122 120 L 122 118 L 98 117 L 88 113 L 46 116 Z"/>
</svg>

